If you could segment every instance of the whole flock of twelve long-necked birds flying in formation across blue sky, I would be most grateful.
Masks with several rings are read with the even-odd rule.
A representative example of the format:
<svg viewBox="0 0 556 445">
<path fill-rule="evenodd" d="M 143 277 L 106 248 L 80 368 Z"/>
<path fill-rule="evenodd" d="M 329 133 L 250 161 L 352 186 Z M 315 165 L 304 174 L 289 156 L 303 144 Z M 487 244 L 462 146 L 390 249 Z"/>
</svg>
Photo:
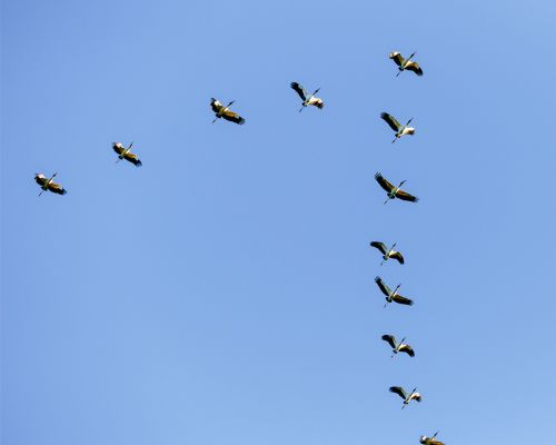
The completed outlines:
<svg viewBox="0 0 556 445">
<path fill-rule="evenodd" d="M 399 52 L 391 52 L 389 55 L 389 58 L 394 60 L 394 62 L 398 66 L 398 73 L 396 75 L 399 76 L 403 71 L 413 71 L 417 76 L 423 76 L 423 70 L 419 67 L 419 65 L 413 60 L 413 57 L 415 56 L 415 52 L 409 56 L 407 59 L 405 59 Z M 325 102 L 322 99 L 318 98 L 316 95 L 320 90 L 320 88 L 317 88 L 312 93 L 308 93 L 304 87 L 301 87 L 298 82 L 291 82 L 290 83 L 291 89 L 294 89 L 299 97 L 301 98 L 301 108 L 299 109 L 299 112 L 301 112 L 306 107 L 308 106 L 314 106 L 319 109 L 322 109 L 325 107 Z M 219 119 L 225 119 L 234 123 L 238 125 L 244 125 L 246 122 L 245 118 L 239 116 L 239 113 L 231 111 L 230 107 L 234 105 L 234 100 L 230 101 L 227 106 L 224 106 L 220 101 L 218 101 L 215 98 L 211 98 L 210 100 L 210 107 L 212 111 L 215 112 L 215 119 L 212 120 L 212 123 L 215 123 Z M 411 123 L 413 118 L 410 118 L 405 125 L 399 123 L 399 121 L 391 115 L 388 115 L 387 112 L 383 112 L 380 115 L 380 118 L 395 131 L 395 138 L 393 140 L 393 144 L 401 138 L 403 136 L 410 136 L 415 134 L 415 128 L 409 127 L 409 123 Z M 113 151 L 118 155 L 117 162 L 120 160 L 127 160 L 128 162 L 135 165 L 136 167 L 141 167 L 141 160 L 136 154 L 131 152 L 131 148 L 133 146 L 133 142 L 129 145 L 129 147 L 125 147 L 120 142 L 113 142 L 112 144 L 112 149 Z M 67 190 L 59 184 L 54 182 L 57 174 L 53 174 L 50 178 L 47 178 L 43 174 L 37 174 L 34 176 L 34 180 L 37 184 L 40 186 L 41 191 L 39 194 L 42 195 L 43 191 L 51 191 L 57 195 L 66 195 Z M 377 172 L 375 175 L 375 179 L 378 182 L 378 185 L 386 191 L 387 194 L 387 199 L 385 200 L 385 205 L 391 200 L 391 199 L 400 199 L 405 201 L 410 201 L 410 202 L 417 202 L 418 198 L 414 195 L 408 194 L 407 191 L 401 189 L 401 186 L 406 182 L 403 180 L 399 182 L 398 186 L 393 185 L 390 181 L 388 181 L 386 178 L 383 177 L 380 172 Z M 394 248 L 396 247 L 396 244 L 394 244 L 391 247 L 387 247 L 384 243 L 380 241 L 373 241 L 370 243 L 371 247 L 375 247 L 383 254 L 383 261 L 380 263 L 380 266 L 383 266 L 388 259 L 395 259 L 397 260 L 400 265 L 403 265 L 404 261 L 404 256 L 401 253 L 395 250 Z M 396 288 L 393 290 L 380 277 L 376 277 L 375 281 L 380 289 L 380 291 L 385 295 L 386 297 L 386 303 L 385 307 L 390 304 L 390 303 L 396 303 L 399 305 L 406 305 L 406 306 L 411 306 L 414 301 L 409 298 L 406 298 L 401 295 L 399 295 L 398 289 L 400 285 L 396 286 Z M 405 342 L 405 337 L 400 340 L 397 342 L 396 337 L 390 334 L 385 334 L 381 337 L 383 340 L 385 340 L 390 347 L 391 347 L 391 357 L 394 358 L 395 355 L 398 353 L 405 353 L 409 357 L 415 357 L 415 352 L 413 347 Z M 414 388 L 410 393 L 407 393 L 401 386 L 391 386 L 389 388 L 390 393 L 397 394 L 399 397 L 403 398 L 404 404 L 401 408 L 404 409 L 411 400 L 416 402 L 421 402 L 421 395 L 417 393 L 417 388 Z M 444 445 L 443 442 L 438 441 L 436 436 L 438 435 L 438 432 L 436 432 L 433 436 L 420 436 L 419 442 L 424 445 Z"/>
</svg>

